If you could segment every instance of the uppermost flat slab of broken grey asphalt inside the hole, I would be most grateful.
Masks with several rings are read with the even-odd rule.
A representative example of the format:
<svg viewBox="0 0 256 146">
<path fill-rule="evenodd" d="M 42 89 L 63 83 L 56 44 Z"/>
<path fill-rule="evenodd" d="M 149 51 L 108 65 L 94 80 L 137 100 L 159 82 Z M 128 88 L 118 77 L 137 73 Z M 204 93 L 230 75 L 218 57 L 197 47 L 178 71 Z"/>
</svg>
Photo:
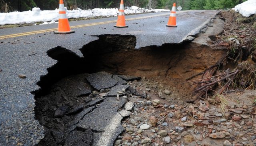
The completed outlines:
<svg viewBox="0 0 256 146">
<path fill-rule="evenodd" d="M 97 90 L 107 89 L 113 87 L 118 83 L 116 80 L 112 79 L 112 75 L 105 71 L 92 73 L 87 78 L 87 81 Z"/>
</svg>

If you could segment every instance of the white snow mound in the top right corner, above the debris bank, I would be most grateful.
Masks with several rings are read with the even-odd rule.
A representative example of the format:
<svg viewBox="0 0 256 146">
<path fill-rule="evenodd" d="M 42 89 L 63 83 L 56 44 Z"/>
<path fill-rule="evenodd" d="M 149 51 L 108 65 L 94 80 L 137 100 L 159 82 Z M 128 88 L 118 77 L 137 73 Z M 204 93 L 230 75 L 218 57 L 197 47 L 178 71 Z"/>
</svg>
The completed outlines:
<svg viewBox="0 0 256 146">
<path fill-rule="evenodd" d="M 256 14 L 256 0 L 247 0 L 242 4 L 238 4 L 235 6 L 234 10 L 244 17 L 250 17 Z"/>
</svg>

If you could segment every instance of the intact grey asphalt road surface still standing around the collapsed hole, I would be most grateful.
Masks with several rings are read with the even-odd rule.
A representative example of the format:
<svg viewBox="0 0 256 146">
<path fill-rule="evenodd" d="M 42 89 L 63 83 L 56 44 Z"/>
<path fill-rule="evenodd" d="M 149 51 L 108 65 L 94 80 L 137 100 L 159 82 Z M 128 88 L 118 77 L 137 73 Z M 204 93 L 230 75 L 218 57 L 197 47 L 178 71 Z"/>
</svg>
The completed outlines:
<svg viewBox="0 0 256 146">
<path fill-rule="evenodd" d="M 198 34 L 217 13 L 178 12 L 177 28 L 165 26 L 170 13 L 152 13 L 126 16 L 128 28 L 114 28 L 116 18 L 70 22 L 75 33 L 68 35 L 49 30 L 57 28 L 57 24 L 0 30 L 0 145 L 35 145 L 43 138 L 44 128 L 34 119 L 35 100 L 31 92 L 40 89 L 36 83 L 57 62 L 48 57 L 49 49 L 62 46 L 82 57 L 79 49 L 101 34 L 135 35 L 136 48 L 182 43 L 188 36 Z M 33 32 L 39 30 L 43 31 Z M 12 35 L 25 32 L 33 33 Z M 19 74 L 26 78 L 19 78 Z"/>
</svg>

